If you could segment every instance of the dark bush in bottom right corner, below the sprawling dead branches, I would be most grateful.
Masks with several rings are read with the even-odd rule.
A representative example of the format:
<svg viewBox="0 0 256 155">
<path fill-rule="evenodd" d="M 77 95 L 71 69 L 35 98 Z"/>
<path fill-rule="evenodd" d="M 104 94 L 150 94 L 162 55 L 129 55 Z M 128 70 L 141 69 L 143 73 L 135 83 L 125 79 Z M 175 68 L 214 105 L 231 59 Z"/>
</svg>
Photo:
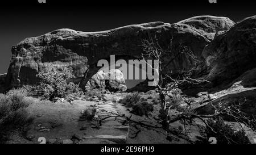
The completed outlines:
<svg viewBox="0 0 256 155">
<path fill-rule="evenodd" d="M 216 120 L 208 119 L 209 126 L 215 131 L 213 133 L 209 128 L 206 129 L 207 137 L 216 137 L 217 144 L 248 144 L 250 143 L 245 131 L 234 132 L 224 120 L 218 117 Z"/>
</svg>

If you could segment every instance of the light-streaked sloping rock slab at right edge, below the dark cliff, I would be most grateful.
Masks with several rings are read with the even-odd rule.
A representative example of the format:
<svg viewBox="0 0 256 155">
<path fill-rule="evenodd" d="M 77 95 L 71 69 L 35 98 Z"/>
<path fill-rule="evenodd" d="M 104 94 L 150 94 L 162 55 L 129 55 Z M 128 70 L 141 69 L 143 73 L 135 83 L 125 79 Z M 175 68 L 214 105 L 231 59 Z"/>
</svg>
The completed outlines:
<svg viewBox="0 0 256 155">
<path fill-rule="evenodd" d="M 227 89 L 210 94 L 213 96 L 212 100 L 203 100 L 200 102 L 199 97 L 196 104 L 199 114 L 214 114 L 215 108 L 222 103 L 222 105 L 230 106 L 231 104 L 242 104 L 240 110 L 249 115 L 256 114 L 256 68 L 247 70 L 240 77 L 235 79 Z"/>
</svg>

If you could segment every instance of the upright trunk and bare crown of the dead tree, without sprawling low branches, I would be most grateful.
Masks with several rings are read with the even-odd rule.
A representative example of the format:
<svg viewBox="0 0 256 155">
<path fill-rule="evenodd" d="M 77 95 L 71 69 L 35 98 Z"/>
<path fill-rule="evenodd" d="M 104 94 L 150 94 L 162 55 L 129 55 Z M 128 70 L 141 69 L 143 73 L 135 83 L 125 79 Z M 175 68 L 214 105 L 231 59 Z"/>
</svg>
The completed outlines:
<svg viewBox="0 0 256 155">
<path fill-rule="evenodd" d="M 161 118 L 162 118 L 162 124 L 163 127 L 168 127 L 168 112 L 170 110 L 170 106 L 166 107 L 166 97 L 170 98 L 172 100 L 171 95 L 169 94 L 171 90 L 177 89 L 177 87 L 180 84 L 183 83 L 193 83 L 193 84 L 199 84 L 205 81 L 197 80 L 191 78 L 193 70 L 196 69 L 196 65 L 199 62 L 198 58 L 193 55 L 193 52 L 191 49 L 184 45 L 179 45 L 178 47 L 174 47 L 172 45 L 172 37 L 170 39 L 170 43 L 166 47 L 162 47 L 156 37 L 148 37 L 148 39 L 142 40 L 142 47 L 144 53 L 142 54 L 143 60 L 147 63 L 146 60 L 158 60 L 159 62 L 159 68 L 155 69 L 151 66 L 152 69 L 156 70 L 156 72 L 159 75 L 159 82 L 156 85 L 159 92 L 159 98 L 160 98 L 160 106 L 161 106 Z M 178 57 L 184 56 L 187 58 L 188 62 L 191 65 L 190 70 L 182 70 L 180 73 L 180 76 L 177 78 L 172 78 L 169 74 L 164 74 L 168 68 L 168 66 L 177 60 Z M 163 63 L 164 58 L 168 57 L 168 61 Z M 150 64 L 147 64 L 150 65 Z M 172 73 L 172 70 L 169 71 Z M 166 85 L 163 85 L 163 79 L 168 78 L 171 80 L 171 82 L 167 83 Z"/>
</svg>

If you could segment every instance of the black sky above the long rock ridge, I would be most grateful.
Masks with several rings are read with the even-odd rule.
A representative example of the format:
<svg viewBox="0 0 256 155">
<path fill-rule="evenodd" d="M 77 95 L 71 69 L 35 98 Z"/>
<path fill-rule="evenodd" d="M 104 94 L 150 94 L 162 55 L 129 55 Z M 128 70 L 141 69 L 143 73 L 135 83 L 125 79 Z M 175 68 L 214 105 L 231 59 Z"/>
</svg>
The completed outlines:
<svg viewBox="0 0 256 155">
<path fill-rule="evenodd" d="M 255 1 L 9 1 L 0 5 L 0 74 L 6 73 L 11 47 L 26 37 L 59 29 L 102 31 L 146 22 L 175 23 L 196 15 L 227 16 L 237 22 L 256 15 Z M 84 2 L 84 3 L 82 3 Z"/>
</svg>

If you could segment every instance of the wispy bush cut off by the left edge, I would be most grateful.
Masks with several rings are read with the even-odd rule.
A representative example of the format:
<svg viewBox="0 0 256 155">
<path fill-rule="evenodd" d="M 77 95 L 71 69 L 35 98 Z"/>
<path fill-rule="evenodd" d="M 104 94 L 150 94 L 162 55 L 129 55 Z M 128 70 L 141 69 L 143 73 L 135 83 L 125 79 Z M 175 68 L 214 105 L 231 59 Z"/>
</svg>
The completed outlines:
<svg viewBox="0 0 256 155">
<path fill-rule="evenodd" d="M 26 99 L 20 91 L 0 98 L 0 143 L 9 140 L 14 131 L 26 133 L 33 120 L 26 110 L 31 103 L 32 100 Z"/>
</svg>

